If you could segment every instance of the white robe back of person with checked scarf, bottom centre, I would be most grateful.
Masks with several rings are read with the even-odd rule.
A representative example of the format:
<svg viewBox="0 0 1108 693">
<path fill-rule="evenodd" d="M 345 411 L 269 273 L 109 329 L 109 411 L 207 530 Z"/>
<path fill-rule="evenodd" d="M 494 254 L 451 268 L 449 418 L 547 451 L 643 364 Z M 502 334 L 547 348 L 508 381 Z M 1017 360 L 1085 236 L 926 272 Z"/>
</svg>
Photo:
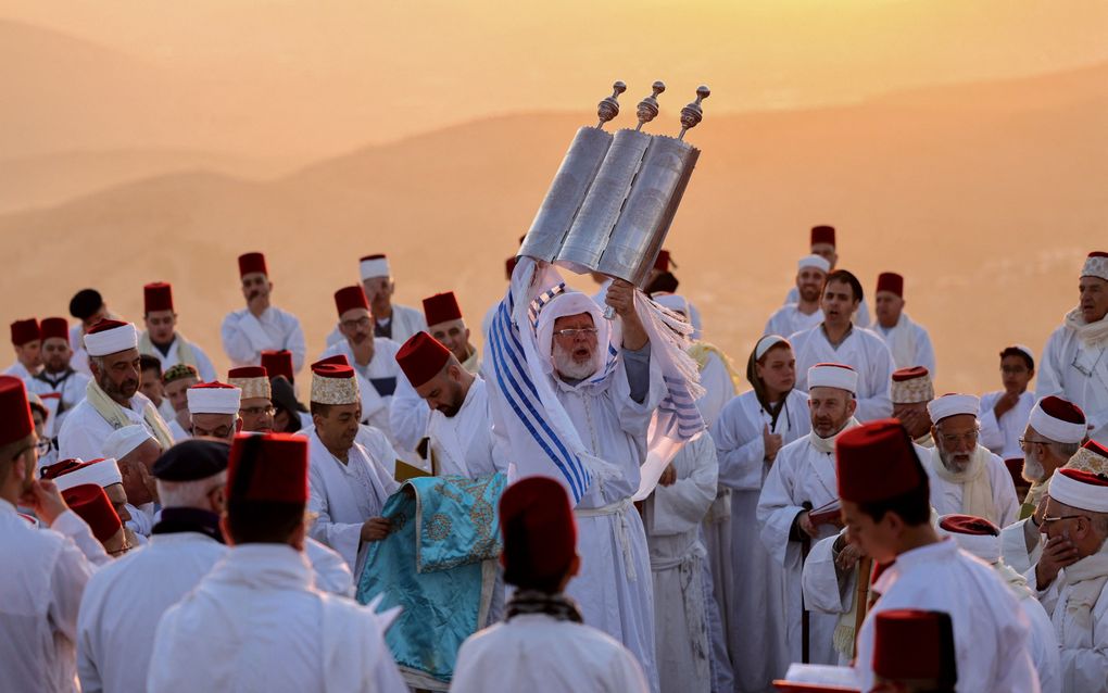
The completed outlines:
<svg viewBox="0 0 1108 693">
<path fill-rule="evenodd" d="M 536 613 L 470 635 L 458 651 L 450 690 L 645 693 L 649 689 L 635 656 L 618 641 L 583 623 Z"/>
</svg>

